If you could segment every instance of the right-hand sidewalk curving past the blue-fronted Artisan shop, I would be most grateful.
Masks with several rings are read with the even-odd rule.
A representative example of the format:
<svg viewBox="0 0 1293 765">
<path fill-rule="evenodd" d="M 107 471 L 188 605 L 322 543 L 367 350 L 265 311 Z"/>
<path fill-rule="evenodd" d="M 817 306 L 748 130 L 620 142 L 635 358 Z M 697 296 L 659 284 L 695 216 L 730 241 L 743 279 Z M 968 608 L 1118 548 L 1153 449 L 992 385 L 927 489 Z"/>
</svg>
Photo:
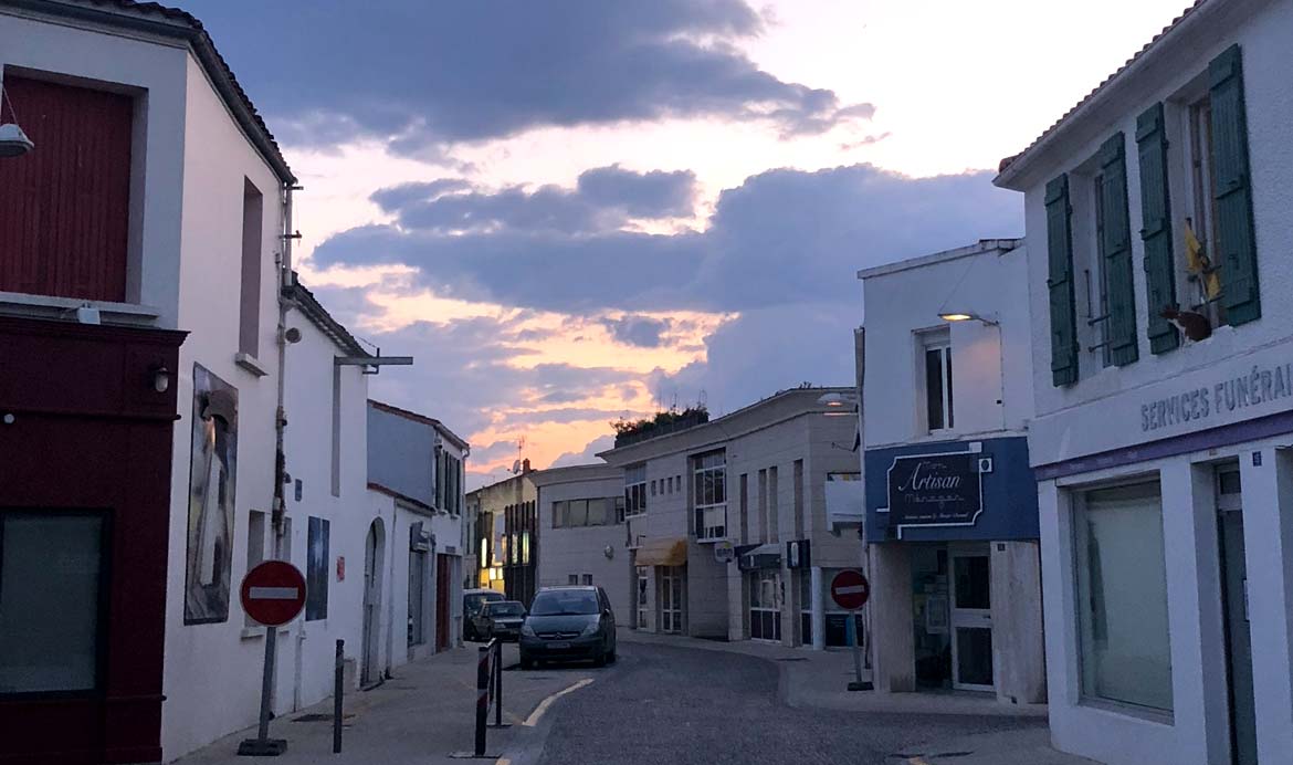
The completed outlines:
<svg viewBox="0 0 1293 765">
<path fill-rule="evenodd" d="M 622 643 L 654 643 L 703 651 L 728 651 L 758 656 L 780 667 L 778 694 L 786 704 L 799 708 L 844 712 L 899 715 L 967 715 L 1003 716 L 1038 721 L 1038 725 L 1015 730 L 934 739 L 932 743 L 904 752 L 909 765 L 1093 765 L 1091 760 L 1055 751 L 1045 704 L 1002 704 L 988 694 L 921 693 L 887 694 L 850 691 L 853 658 L 847 650 L 813 651 L 753 641 L 718 642 L 681 636 L 619 630 Z M 865 669 L 864 677 L 865 674 Z"/>
</svg>

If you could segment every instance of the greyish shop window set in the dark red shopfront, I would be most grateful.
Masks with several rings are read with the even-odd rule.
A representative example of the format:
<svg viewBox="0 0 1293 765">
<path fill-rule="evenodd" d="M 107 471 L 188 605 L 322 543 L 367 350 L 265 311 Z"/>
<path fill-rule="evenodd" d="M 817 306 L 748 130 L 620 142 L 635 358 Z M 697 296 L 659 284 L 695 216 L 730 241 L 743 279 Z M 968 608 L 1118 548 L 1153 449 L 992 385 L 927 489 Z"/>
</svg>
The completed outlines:
<svg viewBox="0 0 1293 765">
<path fill-rule="evenodd" d="M 98 687 L 106 526 L 0 513 L 0 696 Z"/>
</svg>

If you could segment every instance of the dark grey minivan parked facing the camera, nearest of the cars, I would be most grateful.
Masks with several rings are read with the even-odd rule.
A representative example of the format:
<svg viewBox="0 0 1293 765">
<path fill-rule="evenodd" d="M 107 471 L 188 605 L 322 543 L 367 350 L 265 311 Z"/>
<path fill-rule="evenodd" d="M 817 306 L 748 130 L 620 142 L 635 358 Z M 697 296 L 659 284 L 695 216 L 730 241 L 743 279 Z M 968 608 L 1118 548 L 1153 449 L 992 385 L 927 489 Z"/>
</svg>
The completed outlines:
<svg viewBox="0 0 1293 765">
<path fill-rule="evenodd" d="M 543 588 L 521 623 L 521 669 L 537 663 L 615 660 L 615 614 L 599 586 Z"/>
</svg>

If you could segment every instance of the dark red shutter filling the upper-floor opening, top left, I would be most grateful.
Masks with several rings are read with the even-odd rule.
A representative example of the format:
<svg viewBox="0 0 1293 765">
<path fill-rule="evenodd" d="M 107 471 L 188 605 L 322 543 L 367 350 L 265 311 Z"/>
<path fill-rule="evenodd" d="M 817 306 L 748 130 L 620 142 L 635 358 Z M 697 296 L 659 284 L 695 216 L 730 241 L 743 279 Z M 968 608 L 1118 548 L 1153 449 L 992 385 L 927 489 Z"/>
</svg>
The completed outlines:
<svg viewBox="0 0 1293 765">
<path fill-rule="evenodd" d="M 0 162 L 0 291 L 124 302 L 133 98 L 12 70 L 4 89 L 36 149 Z"/>
</svg>

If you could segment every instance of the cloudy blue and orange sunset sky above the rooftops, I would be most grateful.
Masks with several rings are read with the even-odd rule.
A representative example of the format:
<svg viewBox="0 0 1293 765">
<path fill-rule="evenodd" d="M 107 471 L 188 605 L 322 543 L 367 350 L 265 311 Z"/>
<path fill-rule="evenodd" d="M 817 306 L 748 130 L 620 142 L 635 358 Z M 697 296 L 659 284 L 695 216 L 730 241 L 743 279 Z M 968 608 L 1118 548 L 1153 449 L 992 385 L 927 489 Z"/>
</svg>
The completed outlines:
<svg viewBox="0 0 1293 765">
<path fill-rule="evenodd" d="M 857 269 L 1023 234 L 992 185 L 1186 0 L 193 0 L 305 186 L 301 280 L 468 485 L 613 421 L 852 384 Z M 1118 25 L 1107 19 L 1117 18 Z"/>
</svg>

